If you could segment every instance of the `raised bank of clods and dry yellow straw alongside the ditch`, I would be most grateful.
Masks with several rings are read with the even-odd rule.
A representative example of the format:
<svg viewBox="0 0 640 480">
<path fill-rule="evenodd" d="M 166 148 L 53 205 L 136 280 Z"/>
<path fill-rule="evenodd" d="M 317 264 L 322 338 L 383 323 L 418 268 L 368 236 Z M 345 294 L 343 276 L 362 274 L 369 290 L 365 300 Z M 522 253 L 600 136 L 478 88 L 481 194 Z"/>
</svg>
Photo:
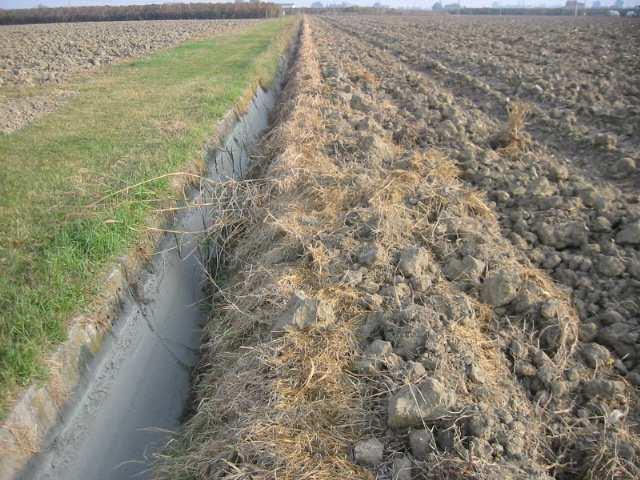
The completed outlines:
<svg viewBox="0 0 640 480">
<path fill-rule="evenodd" d="M 161 476 L 637 476 L 635 392 L 408 118 L 446 97 L 315 20 L 292 75 Z"/>
</svg>

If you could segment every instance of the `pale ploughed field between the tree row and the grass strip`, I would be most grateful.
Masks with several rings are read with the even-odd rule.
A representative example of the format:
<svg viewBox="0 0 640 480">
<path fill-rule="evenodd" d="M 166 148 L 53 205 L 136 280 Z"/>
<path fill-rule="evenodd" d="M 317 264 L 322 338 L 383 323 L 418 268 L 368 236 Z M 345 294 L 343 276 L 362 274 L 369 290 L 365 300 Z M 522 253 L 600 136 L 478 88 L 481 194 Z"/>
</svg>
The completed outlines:
<svg viewBox="0 0 640 480">
<path fill-rule="evenodd" d="M 159 20 L 2 26 L 0 85 L 61 83 L 74 73 L 252 22 Z"/>
</svg>

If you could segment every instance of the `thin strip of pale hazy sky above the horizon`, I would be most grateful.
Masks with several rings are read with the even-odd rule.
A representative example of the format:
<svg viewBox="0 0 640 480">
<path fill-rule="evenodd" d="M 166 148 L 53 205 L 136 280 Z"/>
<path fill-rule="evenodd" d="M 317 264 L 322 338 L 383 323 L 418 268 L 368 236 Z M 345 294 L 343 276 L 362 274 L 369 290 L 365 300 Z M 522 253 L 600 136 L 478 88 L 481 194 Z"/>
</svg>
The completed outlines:
<svg viewBox="0 0 640 480">
<path fill-rule="evenodd" d="M 186 0 L 183 0 L 183 2 Z M 207 0 L 200 0 L 207 1 Z M 221 2 L 224 0 L 216 0 Z M 315 0 L 274 0 L 274 3 L 291 1 L 296 5 L 304 6 L 310 5 Z M 322 3 L 340 3 L 342 0 L 320 0 Z M 373 5 L 376 1 L 384 5 L 392 7 L 417 7 L 433 5 L 436 0 L 347 0 L 354 5 Z M 441 0 L 443 3 L 454 3 L 456 0 Z M 493 0 L 457 0 L 459 3 L 466 7 L 485 7 L 490 6 Z M 520 4 L 522 0 L 500 0 L 502 4 Z M 564 0 L 525 0 L 526 5 L 543 5 L 555 6 L 564 4 Z M 593 0 L 587 0 L 587 5 L 590 5 Z M 614 0 L 601 0 L 603 5 L 613 4 Z M 171 0 L 0 0 L 0 8 L 31 8 L 38 5 L 46 5 L 49 7 L 59 6 L 78 6 L 78 5 L 127 5 L 127 4 L 142 4 L 142 3 L 172 3 Z M 176 0 L 175 3 L 180 3 Z M 215 3 L 215 2 L 213 2 Z M 625 0 L 626 6 L 633 6 L 640 3 L 640 0 Z"/>
</svg>

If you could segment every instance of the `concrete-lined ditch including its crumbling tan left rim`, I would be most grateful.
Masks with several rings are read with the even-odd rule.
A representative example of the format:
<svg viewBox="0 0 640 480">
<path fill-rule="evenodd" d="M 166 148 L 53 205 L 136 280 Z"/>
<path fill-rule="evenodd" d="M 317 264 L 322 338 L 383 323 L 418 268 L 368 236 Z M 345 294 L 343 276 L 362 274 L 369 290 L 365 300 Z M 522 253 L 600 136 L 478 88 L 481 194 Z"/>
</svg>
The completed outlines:
<svg viewBox="0 0 640 480">
<path fill-rule="evenodd" d="M 188 203 L 204 203 L 206 181 L 247 170 L 296 45 L 294 35 L 272 86 L 220 122 L 204 155 L 207 180 L 187 187 Z M 129 257 L 111 270 L 102 308 L 73 319 L 49 380 L 27 388 L 0 427 L 0 480 L 146 478 L 149 452 L 179 425 L 187 400 L 206 319 L 201 232 L 214 214 L 187 209 L 171 228 L 187 233 L 158 235 L 151 261 Z"/>
</svg>

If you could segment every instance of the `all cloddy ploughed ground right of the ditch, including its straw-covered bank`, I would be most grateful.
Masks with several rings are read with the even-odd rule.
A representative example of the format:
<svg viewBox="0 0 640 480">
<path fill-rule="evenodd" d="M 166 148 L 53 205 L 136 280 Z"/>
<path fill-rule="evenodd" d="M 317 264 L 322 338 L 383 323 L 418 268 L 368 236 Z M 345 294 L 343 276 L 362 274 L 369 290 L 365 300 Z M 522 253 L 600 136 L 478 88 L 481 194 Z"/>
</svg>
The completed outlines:
<svg viewBox="0 0 640 480">
<path fill-rule="evenodd" d="M 500 21 L 305 22 L 253 178 L 217 197 L 227 280 L 168 478 L 638 478 L 637 90 L 600 91 L 614 133 L 553 107 L 616 142 L 562 142 L 529 93 L 507 128 L 506 75 L 444 65 L 526 37 Z"/>
</svg>

